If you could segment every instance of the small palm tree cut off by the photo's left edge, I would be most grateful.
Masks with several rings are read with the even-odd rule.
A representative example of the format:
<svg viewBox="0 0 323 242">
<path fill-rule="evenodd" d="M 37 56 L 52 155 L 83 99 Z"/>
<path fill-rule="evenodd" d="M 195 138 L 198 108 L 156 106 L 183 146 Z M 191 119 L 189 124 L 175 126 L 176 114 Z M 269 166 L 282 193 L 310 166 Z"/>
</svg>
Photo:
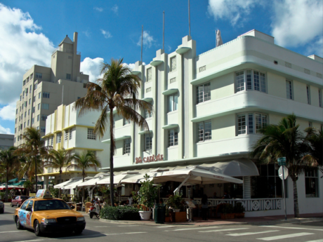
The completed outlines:
<svg viewBox="0 0 323 242">
<path fill-rule="evenodd" d="M 8 174 L 19 166 L 18 155 L 15 153 L 17 148 L 10 147 L 6 150 L 0 150 L 0 166 L 6 170 L 6 200 L 8 201 Z"/>
</svg>

